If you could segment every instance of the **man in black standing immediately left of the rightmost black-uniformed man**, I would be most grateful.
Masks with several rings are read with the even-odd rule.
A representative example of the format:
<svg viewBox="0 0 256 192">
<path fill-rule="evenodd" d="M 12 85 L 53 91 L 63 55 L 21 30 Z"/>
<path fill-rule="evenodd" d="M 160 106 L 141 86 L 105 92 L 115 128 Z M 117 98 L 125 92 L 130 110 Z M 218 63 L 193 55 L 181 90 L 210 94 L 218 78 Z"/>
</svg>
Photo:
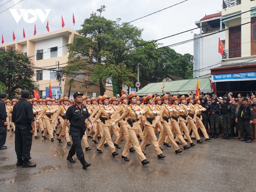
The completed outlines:
<svg viewBox="0 0 256 192">
<path fill-rule="evenodd" d="M 221 104 L 221 114 L 223 121 L 223 137 L 222 139 L 230 139 L 231 135 L 231 121 L 234 121 L 234 107 L 229 103 L 227 97 L 223 97 Z"/>
</svg>

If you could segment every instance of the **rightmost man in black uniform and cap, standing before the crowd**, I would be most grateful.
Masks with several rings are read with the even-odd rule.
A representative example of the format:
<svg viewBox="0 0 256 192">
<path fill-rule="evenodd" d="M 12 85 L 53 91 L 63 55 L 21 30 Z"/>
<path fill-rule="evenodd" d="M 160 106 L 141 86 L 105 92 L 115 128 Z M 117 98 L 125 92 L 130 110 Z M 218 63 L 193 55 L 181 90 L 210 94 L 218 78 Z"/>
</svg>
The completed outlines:
<svg viewBox="0 0 256 192">
<path fill-rule="evenodd" d="M 236 122 L 241 119 L 241 129 L 243 132 L 243 138 L 240 141 L 246 141 L 246 143 L 251 143 L 251 124 L 254 119 L 253 109 L 251 104 L 248 103 L 248 98 L 242 98 L 242 105 L 238 110 L 236 115 Z"/>
</svg>

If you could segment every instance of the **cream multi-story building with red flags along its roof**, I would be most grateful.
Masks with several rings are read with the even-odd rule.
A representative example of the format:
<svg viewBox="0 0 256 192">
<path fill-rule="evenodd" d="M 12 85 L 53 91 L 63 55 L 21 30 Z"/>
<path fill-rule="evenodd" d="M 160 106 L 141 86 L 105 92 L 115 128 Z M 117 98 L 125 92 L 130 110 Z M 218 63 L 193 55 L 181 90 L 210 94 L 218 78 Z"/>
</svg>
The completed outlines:
<svg viewBox="0 0 256 192">
<path fill-rule="evenodd" d="M 54 98 L 68 96 L 70 92 L 70 99 L 72 99 L 76 91 L 83 92 L 88 97 L 96 97 L 100 94 L 99 86 L 83 87 L 83 82 L 90 80 L 90 76 L 86 75 L 88 73 L 85 73 L 86 71 L 70 71 L 76 73 L 76 76 L 73 77 L 75 87 L 68 85 L 69 77 L 63 77 L 62 81 L 56 80 L 57 72 L 61 71 L 61 68 L 67 66 L 69 62 L 66 45 L 73 43 L 74 37 L 78 35 L 74 30 L 66 28 L 2 44 L 1 48 L 17 49 L 32 59 L 35 66 L 35 85 L 38 86 L 39 95 L 42 98 L 49 94 L 49 82 Z M 58 95 L 57 91 L 62 91 L 62 94 Z"/>
</svg>

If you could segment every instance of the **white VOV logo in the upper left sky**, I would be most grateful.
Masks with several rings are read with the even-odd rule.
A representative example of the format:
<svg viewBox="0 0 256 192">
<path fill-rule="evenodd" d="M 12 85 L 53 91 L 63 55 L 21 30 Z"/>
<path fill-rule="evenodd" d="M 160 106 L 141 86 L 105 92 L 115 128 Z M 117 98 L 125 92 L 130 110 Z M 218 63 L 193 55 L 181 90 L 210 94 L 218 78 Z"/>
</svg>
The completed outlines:
<svg viewBox="0 0 256 192">
<path fill-rule="evenodd" d="M 34 23 L 37 18 L 45 22 L 51 9 L 45 9 L 46 14 L 43 13 L 42 9 L 19 9 L 20 13 L 16 9 L 9 9 L 16 23 L 18 23 L 23 16 L 23 20 L 27 23 Z"/>
</svg>

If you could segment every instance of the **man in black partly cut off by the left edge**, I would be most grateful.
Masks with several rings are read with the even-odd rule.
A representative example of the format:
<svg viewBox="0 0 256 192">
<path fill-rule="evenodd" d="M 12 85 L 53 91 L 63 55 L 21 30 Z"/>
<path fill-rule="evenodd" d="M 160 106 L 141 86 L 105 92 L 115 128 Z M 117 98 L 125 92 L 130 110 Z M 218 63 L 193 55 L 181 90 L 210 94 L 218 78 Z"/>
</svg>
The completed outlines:
<svg viewBox="0 0 256 192">
<path fill-rule="evenodd" d="M 0 149 L 7 149 L 5 146 L 6 135 L 7 135 L 7 114 L 5 109 L 6 93 L 0 94 Z"/>
</svg>

